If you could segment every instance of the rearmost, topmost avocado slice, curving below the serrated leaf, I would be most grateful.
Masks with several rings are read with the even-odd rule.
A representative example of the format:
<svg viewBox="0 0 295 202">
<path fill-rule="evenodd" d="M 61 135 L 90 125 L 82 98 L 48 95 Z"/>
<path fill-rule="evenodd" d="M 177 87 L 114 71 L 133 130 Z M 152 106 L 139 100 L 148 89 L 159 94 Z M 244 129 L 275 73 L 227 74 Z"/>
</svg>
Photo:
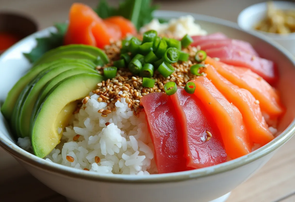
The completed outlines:
<svg viewBox="0 0 295 202">
<path fill-rule="evenodd" d="M 91 45 L 70 44 L 70 45 L 60 46 L 58 48 L 48 51 L 38 61 L 36 61 L 35 65 L 43 63 L 44 61 L 47 60 L 47 58 L 50 58 L 54 55 L 59 55 L 60 53 L 64 53 L 67 51 L 84 51 L 95 56 L 98 59 L 101 59 L 103 61 L 103 64 L 109 63 L 108 56 L 100 48 L 96 48 Z"/>
</svg>

